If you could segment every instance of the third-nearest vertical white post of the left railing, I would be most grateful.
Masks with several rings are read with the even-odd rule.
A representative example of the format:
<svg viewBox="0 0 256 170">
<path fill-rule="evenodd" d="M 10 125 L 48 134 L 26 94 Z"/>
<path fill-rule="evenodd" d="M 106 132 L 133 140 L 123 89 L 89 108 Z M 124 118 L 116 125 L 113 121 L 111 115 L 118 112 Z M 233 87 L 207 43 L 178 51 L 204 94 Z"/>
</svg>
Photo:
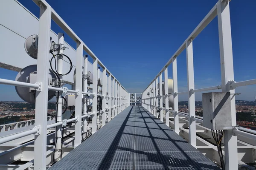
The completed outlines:
<svg viewBox="0 0 256 170">
<path fill-rule="evenodd" d="M 97 131 L 97 94 L 98 94 L 98 59 L 93 59 L 93 113 L 92 116 L 92 133 Z"/>
</svg>

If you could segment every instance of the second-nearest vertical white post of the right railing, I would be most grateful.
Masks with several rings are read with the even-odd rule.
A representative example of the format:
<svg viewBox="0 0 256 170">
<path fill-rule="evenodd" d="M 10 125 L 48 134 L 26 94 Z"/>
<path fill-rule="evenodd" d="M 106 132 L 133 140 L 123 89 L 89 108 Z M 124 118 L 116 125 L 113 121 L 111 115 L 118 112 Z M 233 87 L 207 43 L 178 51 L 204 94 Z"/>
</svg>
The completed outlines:
<svg viewBox="0 0 256 170">
<path fill-rule="evenodd" d="M 196 147 L 195 94 L 192 93 L 192 90 L 195 89 L 192 39 L 186 40 L 186 60 L 189 104 L 189 143 Z"/>
</svg>

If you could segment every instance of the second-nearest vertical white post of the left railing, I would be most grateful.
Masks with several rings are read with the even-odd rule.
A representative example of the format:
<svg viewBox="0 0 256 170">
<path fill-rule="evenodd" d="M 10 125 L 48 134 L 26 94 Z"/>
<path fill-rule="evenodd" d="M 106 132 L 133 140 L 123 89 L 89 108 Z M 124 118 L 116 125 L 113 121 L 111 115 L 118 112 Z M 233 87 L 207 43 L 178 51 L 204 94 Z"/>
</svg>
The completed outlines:
<svg viewBox="0 0 256 170">
<path fill-rule="evenodd" d="M 75 147 L 81 144 L 82 131 L 82 81 L 83 81 L 83 44 L 76 42 L 76 111 L 75 116 L 78 118 L 75 124 Z"/>
</svg>

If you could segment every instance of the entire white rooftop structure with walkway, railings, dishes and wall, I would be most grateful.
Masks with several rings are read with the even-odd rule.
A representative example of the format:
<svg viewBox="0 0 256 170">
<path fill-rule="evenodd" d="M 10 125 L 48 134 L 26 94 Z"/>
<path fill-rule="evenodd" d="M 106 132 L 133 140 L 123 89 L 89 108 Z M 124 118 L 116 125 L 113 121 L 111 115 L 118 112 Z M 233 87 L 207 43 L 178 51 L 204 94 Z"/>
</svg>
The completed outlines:
<svg viewBox="0 0 256 170">
<path fill-rule="evenodd" d="M 9 16 L 0 18 L 0 51 L 8 56 L 0 67 L 19 72 L 0 84 L 35 104 L 35 119 L 0 125 L 1 170 L 254 168 L 256 131 L 236 124 L 235 88 L 256 79 L 234 79 L 230 0 L 218 0 L 140 94 L 128 93 L 45 0 L 33 1 L 39 19 L 17 0 L 0 2 L 0 14 Z M 195 89 L 193 41 L 215 17 L 221 84 Z M 76 49 L 51 30 L 51 20 Z M 188 87 L 178 91 L 177 59 L 185 50 Z M 196 116 L 195 93 L 206 91 L 203 117 Z M 179 111 L 180 94 L 187 94 L 188 113 Z M 54 96 L 56 111 L 49 114 Z"/>
</svg>

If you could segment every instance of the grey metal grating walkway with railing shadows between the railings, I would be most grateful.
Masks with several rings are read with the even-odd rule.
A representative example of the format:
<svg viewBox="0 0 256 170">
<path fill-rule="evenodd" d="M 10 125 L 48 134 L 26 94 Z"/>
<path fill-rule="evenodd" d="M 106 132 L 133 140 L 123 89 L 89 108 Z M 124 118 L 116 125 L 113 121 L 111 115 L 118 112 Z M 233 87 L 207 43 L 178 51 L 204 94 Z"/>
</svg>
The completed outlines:
<svg viewBox="0 0 256 170">
<path fill-rule="evenodd" d="M 220 170 L 141 106 L 129 106 L 49 170 Z"/>
</svg>

